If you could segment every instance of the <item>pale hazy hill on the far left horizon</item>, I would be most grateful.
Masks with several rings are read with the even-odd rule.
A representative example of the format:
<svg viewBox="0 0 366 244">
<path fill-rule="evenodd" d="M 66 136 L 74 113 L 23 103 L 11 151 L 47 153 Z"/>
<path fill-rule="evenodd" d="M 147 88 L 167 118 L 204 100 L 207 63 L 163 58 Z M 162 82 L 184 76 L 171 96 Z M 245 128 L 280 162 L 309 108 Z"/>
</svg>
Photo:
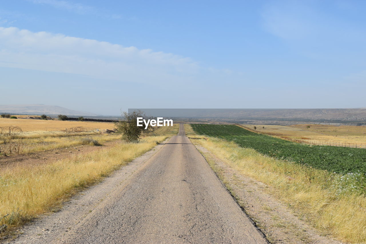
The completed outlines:
<svg viewBox="0 0 366 244">
<path fill-rule="evenodd" d="M 81 115 L 96 116 L 94 113 L 81 112 L 60 106 L 44 104 L 16 104 L 0 105 L 0 113 L 10 113 L 19 115 Z"/>
</svg>

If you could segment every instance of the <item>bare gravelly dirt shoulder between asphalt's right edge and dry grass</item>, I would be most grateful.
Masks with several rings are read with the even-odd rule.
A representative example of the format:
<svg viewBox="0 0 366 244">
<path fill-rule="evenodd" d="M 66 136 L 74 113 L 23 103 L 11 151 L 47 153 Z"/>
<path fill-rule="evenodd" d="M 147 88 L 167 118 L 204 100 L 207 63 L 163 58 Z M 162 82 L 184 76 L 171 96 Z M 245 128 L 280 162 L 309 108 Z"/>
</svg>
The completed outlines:
<svg viewBox="0 0 366 244">
<path fill-rule="evenodd" d="M 204 147 L 195 146 L 271 243 L 342 244 L 318 233 L 301 215 L 270 195 L 270 186 L 243 175 L 236 165 L 222 162 Z"/>
</svg>

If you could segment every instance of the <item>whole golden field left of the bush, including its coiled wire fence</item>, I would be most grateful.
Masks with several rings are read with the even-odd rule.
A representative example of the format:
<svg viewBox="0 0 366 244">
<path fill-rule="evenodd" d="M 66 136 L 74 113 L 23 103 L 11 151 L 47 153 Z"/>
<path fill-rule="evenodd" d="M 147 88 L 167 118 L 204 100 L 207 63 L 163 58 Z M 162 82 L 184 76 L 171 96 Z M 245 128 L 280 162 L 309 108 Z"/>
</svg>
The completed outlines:
<svg viewBox="0 0 366 244">
<path fill-rule="evenodd" d="M 33 153 L 77 145 L 100 145 L 120 135 L 103 134 L 113 123 L 0 119 L 0 155 Z"/>
</svg>

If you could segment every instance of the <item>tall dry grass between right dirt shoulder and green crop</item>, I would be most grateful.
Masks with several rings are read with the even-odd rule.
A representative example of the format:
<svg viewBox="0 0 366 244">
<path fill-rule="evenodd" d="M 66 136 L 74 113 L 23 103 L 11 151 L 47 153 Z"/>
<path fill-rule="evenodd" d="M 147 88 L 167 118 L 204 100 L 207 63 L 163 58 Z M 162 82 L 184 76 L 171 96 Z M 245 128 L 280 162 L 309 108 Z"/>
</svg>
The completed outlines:
<svg viewBox="0 0 366 244">
<path fill-rule="evenodd" d="M 198 136 L 202 137 L 202 136 Z M 351 243 L 366 242 L 365 179 L 341 176 L 267 157 L 218 138 L 191 139 L 240 173 L 270 185 L 269 191 L 324 233 Z"/>
</svg>

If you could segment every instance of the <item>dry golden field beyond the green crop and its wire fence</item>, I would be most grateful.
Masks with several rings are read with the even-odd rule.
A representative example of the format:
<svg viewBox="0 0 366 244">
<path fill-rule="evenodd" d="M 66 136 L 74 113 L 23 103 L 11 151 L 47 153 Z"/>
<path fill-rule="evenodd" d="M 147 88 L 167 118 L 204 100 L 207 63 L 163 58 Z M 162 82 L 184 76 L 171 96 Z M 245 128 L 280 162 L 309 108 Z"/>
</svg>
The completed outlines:
<svg viewBox="0 0 366 244">
<path fill-rule="evenodd" d="M 264 134 L 277 134 L 279 138 L 304 139 L 308 144 L 329 144 L 334 146 L 366 147 L 366 127 L 351 125 L 240 125 Z M 307 128 L 307 126 L 310 126 Z M 264 128 L 263 128 L 264 127 Z M 290 138 L 288 138 L 288 136 Z"/>
</svg>

